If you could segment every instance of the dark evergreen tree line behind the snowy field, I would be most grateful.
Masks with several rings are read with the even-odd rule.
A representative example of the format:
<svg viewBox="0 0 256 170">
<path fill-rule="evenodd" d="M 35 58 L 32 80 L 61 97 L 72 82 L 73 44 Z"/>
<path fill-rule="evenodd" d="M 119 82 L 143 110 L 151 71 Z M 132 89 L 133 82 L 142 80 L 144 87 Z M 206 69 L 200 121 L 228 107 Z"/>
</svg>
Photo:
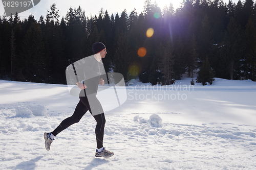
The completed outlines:
<svg viewBox="0 0 256 170">
<path fill-rule="evenodd" d="M 176 10 L 146 0 L 139 14 L 109 15 L 101 8 L 98 16 L 79 6 L 61 19 L 53 4 L 38 21 L 32 14 L 22 21 L 17 13 L 4 14 L 0 79 L 65 84 L 66 67 L 92 55 L 92 44 L 101 41 L 106 72 L 120 72 L 125 81 L 169 85 L 202 68 L 211 77 L 256 81 L 255 16 L 252 0 L 185 0 Z"/>
</svg>

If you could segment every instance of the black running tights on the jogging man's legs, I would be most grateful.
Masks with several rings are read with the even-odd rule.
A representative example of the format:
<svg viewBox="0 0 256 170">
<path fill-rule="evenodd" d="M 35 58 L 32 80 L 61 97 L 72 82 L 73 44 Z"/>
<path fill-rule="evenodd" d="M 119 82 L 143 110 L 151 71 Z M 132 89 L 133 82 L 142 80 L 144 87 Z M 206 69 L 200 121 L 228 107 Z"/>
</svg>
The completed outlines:
<svg viewBox="0 0 256 170">
<path fill-rule="evenodd" d="M 96 98 L 96 96 L 95 96 Z M 97 99 L 98 100 L 98 99 Z M 100 105 L 100 103 L 99 103 Z M 100 106 L 101 107 L 101 106 Z M 57 136 L 58 133 L 61 131 L 67 129 L 69 126 L 78 123 L 79 120 L 82 118 L 82 116 L 87 112 L 90 111 L 92 114 L 92 111 L 90 109 L 90 105 L 87 99 L 87 96 L 80 96 L 80 101 L 76 106 L 76 109 L 72 116 L 66 118 L 63 120 L 60 125 L 52 132 L 54 136 Z M 104 135 L 104 127 L 105 127 L 105 115 L 104 113 L 97 114 L 93 116 L 97 122 L 96 128 L 95 128 L 95 134 L 96 134 L 96 142 L 97 142 L 97 148 L 103 147 L 103 135 Z"/>
</svg>

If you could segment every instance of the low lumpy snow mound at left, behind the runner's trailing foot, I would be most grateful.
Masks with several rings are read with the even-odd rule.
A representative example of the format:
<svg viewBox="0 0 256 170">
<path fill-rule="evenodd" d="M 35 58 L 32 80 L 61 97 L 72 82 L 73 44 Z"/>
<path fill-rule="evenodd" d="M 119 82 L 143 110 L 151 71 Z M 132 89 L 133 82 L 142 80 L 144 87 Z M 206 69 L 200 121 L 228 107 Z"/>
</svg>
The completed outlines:
<svg viewBox="0 0 256 170">
<path fill-rule="evenodd" d="M 27 105 L 16 107 L 16 117 L 46 116 L 47 108 L 42 105 Z"/>
</svg>

